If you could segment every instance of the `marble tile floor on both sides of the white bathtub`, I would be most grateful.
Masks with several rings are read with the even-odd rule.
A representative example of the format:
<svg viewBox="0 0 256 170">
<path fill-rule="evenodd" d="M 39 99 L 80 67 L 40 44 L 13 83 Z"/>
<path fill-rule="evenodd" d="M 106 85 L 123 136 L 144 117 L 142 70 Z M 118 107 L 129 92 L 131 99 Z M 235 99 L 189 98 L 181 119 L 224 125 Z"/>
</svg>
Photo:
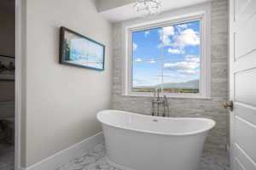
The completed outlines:
<svg viewBox="0 0 256 170">
<path fill-rule="evenodd" d="M 56 170 L 122 170 L 112 167 L 105 159 L 106 148 L 98 144 L 92 150 L 86 150 L 84 155 L 58 167 Z M 229 163 L 224 156 L 204 154 L 201 158 L 199 170 L 229 170 Z M 160 170 L 160 169 L 159 169 Z"/>
</svg>

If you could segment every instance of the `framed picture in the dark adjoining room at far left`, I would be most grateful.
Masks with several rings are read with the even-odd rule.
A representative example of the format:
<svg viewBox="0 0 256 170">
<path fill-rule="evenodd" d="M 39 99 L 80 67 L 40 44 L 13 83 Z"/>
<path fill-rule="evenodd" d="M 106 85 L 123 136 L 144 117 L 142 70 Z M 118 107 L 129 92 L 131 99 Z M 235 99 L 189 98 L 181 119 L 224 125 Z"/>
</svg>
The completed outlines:
<svg viewBox="0 0 256 170">
<path fill-rule="evenodd" d="M 0 81 L 15 80 L 15 58 L 0 55 Z"/>
</svg>

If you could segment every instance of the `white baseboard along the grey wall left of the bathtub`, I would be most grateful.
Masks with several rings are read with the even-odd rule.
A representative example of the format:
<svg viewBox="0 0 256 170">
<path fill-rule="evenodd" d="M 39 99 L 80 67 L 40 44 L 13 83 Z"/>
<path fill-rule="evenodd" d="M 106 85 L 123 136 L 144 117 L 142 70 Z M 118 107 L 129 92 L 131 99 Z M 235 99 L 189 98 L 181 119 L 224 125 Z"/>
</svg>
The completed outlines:
<svg viewBox="0 0 256 170">
<path fill-rule="evenodd" d="M 84 139 L 78 144 L 73 144 L 65 150 L 57 152 L 53 156 L 49 156 L 43 161 L 39 161 L 30 167 L 21 167 L 20 170 L 55 170 L 61 165 L 65 165 L 68 161 L 82 156 L 85 150 L 94 148 L 97 144 L 101 144 L 104 140 L 103 133 L 96 133 L 88 139 Z"/>
</svg>

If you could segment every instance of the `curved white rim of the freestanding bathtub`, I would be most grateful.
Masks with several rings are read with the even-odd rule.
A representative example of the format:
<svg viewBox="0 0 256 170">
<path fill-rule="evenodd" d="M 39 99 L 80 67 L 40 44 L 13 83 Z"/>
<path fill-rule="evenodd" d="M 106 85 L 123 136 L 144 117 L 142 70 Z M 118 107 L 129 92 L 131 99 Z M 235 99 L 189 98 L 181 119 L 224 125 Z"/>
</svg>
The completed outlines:
<svg viewBox="0 0 256 170">
<path fill-rule="evenodd" d="M 152 117 L 153 119 L 176 119 L 176 120 L 185 120 L 185 119 L 196 119 L 196 120 L 204 120 L 209 123 L 209 127 L 207 128 L 202 128 L 200 130 L 196 130 L 196 131 L 192 131 L 189 133 L 163 133 L 163 132 L 158 132 L 158 131 L 149 131 L 149 130 L 143 130 L 143 129 L 137 129 L 137 128 L 131 128 L 131 127 L 122 127 L 122 126 L 118 126 L 118 125 L 113 125 L 111 123 L 108 122 L 104 122 L 102 121 L 102 118 L 100 117 L 101 114 L 104 114 L 105 111 L 119 111 L 119 110 L 102 110 L 102 111 L 98 111 L 96 118 L 99 122 L 101 122 L 102 124 L 105 124 L 109 127 L 117 127 L 120 129 L 125 129 L 125 130 L 131 130 L 134 132 L 140 132 L 140 133 L 150 133 L 150 134 L 158 134 L 158 135 L 166 135 L 166 136 L 188 136 L 188 135 L 195 135 L 195 134 L 199 134 L 199 133 L 206 133 L 207 131 L 211 130 L 215 125 L 216 122 L 213 121 L 212 119 L 209 118 L 203 118 L 203 117 L 162 117 L 162 116 L 149 116 L 149 115 L 143 115 L 143 114 L 139 114 L 139 113 L 134 113 L 134 112 L 130 112 L 130 111 L 121 111 L 125 114 L 130 114 L 130 115 L 137 115 L 137 116 L 144 116 L 144 117 Z"/>
</svg>

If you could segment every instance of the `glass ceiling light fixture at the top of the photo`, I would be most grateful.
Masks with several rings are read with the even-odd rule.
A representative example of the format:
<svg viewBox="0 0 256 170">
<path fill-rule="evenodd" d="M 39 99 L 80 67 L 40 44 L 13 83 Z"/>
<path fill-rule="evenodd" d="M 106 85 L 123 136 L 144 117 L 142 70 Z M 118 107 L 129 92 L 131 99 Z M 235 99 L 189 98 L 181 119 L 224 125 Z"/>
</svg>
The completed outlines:
<svg viewBox="0 0 256 170">
<path fill-rule="evenodd" d="M 160 0 L 137 0 L 135 8 L 137 13 L 142 16 L 148 16 L 160 13 L 160 7 L 162 6 Z"/>
</svg>

